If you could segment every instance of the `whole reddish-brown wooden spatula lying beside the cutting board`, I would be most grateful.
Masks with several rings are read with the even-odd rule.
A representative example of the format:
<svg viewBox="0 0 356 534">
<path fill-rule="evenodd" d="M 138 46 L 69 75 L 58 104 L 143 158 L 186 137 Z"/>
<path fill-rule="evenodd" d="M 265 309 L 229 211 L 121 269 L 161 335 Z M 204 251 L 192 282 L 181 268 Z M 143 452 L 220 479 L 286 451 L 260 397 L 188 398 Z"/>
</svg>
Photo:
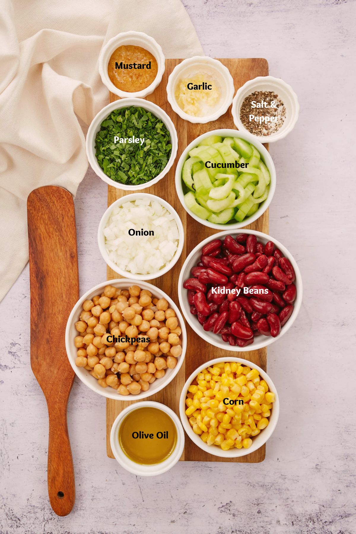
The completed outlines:
<svg viewBox="0 0 356 534">
<path fill-rule="evenodd" d="M 48 493 L 57 515 L 75 500 L 67 403 L 74 372 L 65 347 L 70 311 L 79 297 L 72 195 L 57 186 L 39 187 L 27 199 L 31 295 L 31 367 L 49 414 Z"/>
</svg>

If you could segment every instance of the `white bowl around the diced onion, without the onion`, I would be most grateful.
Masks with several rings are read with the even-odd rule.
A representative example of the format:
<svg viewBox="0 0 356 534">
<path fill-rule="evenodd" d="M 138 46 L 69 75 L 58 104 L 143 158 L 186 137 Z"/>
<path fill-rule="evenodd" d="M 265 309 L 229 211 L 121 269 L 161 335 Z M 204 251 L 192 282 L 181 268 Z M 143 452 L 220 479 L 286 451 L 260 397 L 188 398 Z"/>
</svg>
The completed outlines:
<svg viewBox="0 0 356 534">
<path fill-rule="evenodd" d="M 125 202 L 132 202 L 133 200 L 142 199 L 142 198 L 147 198 L 151 201 L 155 200 L 156 202 L 159 202 L 164 208 L 168 209 L 168 211 L 174 216 L 175 221 L 177 223 L 177 228 L 179 232 L 179 241 L 178 241 L 178 248 L 176 250 L 175 255 L 172 257 L 172 260 L 163 267 L 163 269 L 161 269 L 160 271 L 155 271 L 153 273 L 148 273 L 148 274 L 134 274 L 134 273 L 131 273 L 130 271 L 123 271 L 122 269 L 118 268 L 116 263 L 110 260 L 109 255 L 106 250 L 106 246 L 105 246 L 104 228 L 108 222 L 108 219 L 114 207 L 122 206 L 122 204 Z M 98 244 L 99 244 L 99 250 L 100 250 L 101 256 L 104 258 L 107 265 L 109 265 L 109 267 L 113 271 L 117 272 L 117 274 L 121 274 L 121 276 L 129 276 L 133 280 L 147 280 L 147 279 L 153 280 L 154 278 L 158 278 L 159 276 L 162 276 L 162 274 L 165 274 L 170 269 L 172 269 L 173 265 L 175 265 L 177 261 L 179 260 L 179 257 L 181 255 L 181 252 L 183 250 L 183 245 L 184 245 L 183 224 L 181 223 L 181 220 L 179 218 L 177 211 L 174 208 L 172 208 L 172 206 L 165 200 L 161 199 L 160 197 L 156 197 L 155 195 L 151 195 L 149 193 L 132 193 L 131 195 L 124 195 L 124 197 L 121 197 L 120 199 L 116 200 L 111 206 L 107 208 L 104 215 L 101 217 L 101 221 L 99 223 Z"/>
</svg>

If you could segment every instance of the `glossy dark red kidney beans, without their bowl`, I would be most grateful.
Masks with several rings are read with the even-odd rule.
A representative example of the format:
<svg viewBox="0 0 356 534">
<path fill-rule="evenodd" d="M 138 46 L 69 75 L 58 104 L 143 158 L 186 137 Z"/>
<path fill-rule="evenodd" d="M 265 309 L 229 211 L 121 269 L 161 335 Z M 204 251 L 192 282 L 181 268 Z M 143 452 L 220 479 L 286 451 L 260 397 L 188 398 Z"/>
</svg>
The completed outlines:
<svg viewBox="0 0 356 534">
<path fill-rule="evenodd" d="M 277 337 L 294 310 L 295 270 L 272 241 L 240 233 L 212 239 L 183 282 L 190 311 L 205 332 L 232 347 Z"/>
</svg>

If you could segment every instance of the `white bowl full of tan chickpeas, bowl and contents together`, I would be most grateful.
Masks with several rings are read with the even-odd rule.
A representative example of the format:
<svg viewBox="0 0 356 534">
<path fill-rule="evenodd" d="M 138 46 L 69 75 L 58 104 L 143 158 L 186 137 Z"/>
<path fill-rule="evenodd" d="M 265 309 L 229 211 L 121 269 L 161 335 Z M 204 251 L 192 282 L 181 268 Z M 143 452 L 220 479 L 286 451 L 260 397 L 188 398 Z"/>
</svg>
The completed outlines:
<svg viewBox="0 0 356 534">
<path fill-rule="evenodd" d="M 178 373 L 185 325 L 161 289 L 112 280 L 77 302 L 67 323 L 66 349 L 75 373 L 92 390 L 108 398 L 142 399 Z"/>
</svg>

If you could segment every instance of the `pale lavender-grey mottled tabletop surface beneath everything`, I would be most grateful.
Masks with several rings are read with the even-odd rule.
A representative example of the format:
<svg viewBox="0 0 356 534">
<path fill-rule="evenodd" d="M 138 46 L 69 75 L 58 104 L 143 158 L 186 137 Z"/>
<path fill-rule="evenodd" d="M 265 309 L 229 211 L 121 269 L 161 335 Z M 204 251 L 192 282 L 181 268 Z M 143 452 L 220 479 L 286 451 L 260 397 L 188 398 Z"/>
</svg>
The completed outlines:
<svg viewBox="0 0 356 534">
<path fill-rule="evenodd" d="M 295 130 L 271 145 L 278 184 L 270 233 L 294 254 L 304 282 L 295 325 L 268 349 L 267 371 L 281 401 L 278 427 L 262 464 L 180 462 L 160 477 L 139 478 L 106 457 L 105 399 L 76 380 L 68 409 L 76 503 L 68 517 L 57 517 L 47 496 L 46 406 L 29 364 L 27 267 L 0 305 L 2 534 L 356 531 L 350 270 L 356 187 L 349 143 L 355 4 L 184 4 L 205 53 L 265 57 L 270 74 L 290 83 L 299 97 Z M 106 274 L 96 241 L 106 185 L 92 172 L 75 206 L 84 293 Z"/>
</svg>

